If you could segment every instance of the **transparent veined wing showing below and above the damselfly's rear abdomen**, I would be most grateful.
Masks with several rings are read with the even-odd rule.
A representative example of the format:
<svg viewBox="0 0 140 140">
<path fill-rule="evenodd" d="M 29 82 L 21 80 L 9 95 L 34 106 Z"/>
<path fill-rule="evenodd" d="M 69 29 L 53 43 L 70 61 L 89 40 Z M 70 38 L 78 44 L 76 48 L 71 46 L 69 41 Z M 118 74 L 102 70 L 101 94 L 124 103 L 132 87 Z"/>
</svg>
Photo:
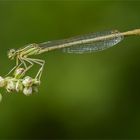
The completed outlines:
<svg viewBox="0 0 140 140">
<path fill-rule="evenodd" d="M 90 53 L 90 52 L 102 51 L 102 50 L 105 50 L 107 48 L 110 48 L 110 47 L 118 44 L 123 39 L 123 36 L 120 35 L 118 31 L 93 33 L 93 34 L 87 35 L 83 38 L 84 39 L 97 38 L 97 37 L 106 36 L 106 35 L 110 35 L 110 34 L 114 34 L 114 36 L 109 39 L 93 41 L 90 43 L 81 43 L 81 44 L 73 45 L 71 47 L 66 47 L 66 48 L 63 48 L 63 51 L 66 53 Z"/>
</svg>

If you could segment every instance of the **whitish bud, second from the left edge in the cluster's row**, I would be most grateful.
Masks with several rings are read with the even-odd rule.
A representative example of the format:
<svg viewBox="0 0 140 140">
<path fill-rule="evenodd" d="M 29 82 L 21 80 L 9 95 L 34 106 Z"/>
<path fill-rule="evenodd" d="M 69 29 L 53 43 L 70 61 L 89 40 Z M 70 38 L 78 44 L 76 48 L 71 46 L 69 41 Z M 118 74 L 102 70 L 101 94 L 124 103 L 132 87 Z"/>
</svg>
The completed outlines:
<svg viewBox="0 0 140 140">
<path fill-rule="evenodd" d="M 16 82 L 13 79 L 7 81 L 6 89 L 8 92 L 15 91 L 16 90 Z"/>
</svg>

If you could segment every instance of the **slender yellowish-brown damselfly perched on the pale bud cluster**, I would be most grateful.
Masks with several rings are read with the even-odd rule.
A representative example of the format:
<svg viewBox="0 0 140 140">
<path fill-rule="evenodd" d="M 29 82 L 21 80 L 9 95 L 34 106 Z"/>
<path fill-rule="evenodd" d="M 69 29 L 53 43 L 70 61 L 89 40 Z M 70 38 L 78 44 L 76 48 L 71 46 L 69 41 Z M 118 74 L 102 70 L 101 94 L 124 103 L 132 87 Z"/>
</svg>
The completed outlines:
<svg viewBox="0 0 140 140">
<path fill-rule="evenodd" d="M 67 53 L 89 53 L 101 51 L 118 44 L 123 40 L 124 36 L 129 35 L 140 35 L 140 29 L 127 32 L 119 32 L 117 30 L 98 32 L 69 39 L 48 41 L 39 44 L 33 43 L 18 50 L 11 49 L 8 52 L 8 57 L 10 59 L 16 59 L 16 66 L 13 67 L 8 74 L 21 65 L 25 67 L 25 72 L 27 72 L 34 64 L 38 64 L 40 65 L 40 69 L 35 78 L 40 80 L 45 61 L 31 58 L 30 56 L 39 55 L 56 49 L 62 49 Z"/>
</svg>

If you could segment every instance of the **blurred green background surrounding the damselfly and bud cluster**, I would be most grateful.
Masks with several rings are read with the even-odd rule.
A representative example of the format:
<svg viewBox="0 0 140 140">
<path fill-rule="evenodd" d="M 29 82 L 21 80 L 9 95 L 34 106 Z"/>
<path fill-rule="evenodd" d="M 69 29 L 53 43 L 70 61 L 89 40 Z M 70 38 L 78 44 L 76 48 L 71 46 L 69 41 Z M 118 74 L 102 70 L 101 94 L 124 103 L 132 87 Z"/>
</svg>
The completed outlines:
<svg viewBox="0 0 140 140">
<path fill-rule="evenodd" d="M 140 28 L 139 1 L 0 0 L 0 73 L 14 66 L 10 48 L 134 28 Z M 140 138 L 140 37 L 102 52 L 37 58 L 46 60 L 38 94 L 1 90 L 1 139 Z"/>
</svg>

